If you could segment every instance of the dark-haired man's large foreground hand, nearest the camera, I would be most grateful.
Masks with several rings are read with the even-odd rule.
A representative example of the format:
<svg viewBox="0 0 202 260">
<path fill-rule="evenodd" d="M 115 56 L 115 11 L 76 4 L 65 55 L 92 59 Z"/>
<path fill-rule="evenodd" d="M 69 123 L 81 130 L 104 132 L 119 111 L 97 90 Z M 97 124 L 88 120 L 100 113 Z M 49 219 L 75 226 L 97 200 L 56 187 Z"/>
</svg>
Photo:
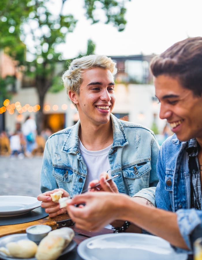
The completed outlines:
<svg viewBox="0 0 202 260">
<path fill-rule="evenodd" d="M 124 194 L 109 192 L 86 192 L 67 201 L 67 211 L 76 227 L 97 231 L 119 217 L 121 199 Z M 75 207 L 75 204 L 85 204 Z"/>
</svg>

